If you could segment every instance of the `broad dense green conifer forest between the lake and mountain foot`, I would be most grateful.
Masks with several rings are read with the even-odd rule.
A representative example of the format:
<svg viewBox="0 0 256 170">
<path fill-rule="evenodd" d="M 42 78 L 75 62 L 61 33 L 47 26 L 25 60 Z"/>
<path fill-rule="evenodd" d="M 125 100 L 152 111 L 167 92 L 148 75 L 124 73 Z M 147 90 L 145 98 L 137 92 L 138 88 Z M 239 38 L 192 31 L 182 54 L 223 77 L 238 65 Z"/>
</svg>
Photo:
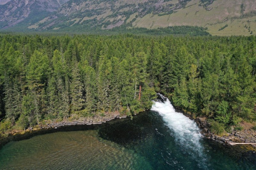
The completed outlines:
<svg viewBox="0 0 256 170">
<path fill-rule="evenodd" d="M 256 37 L 1 35 L 0 132 L 150 109 L 156 92 L 228 130 L 255 121 Z"/>
</svg>

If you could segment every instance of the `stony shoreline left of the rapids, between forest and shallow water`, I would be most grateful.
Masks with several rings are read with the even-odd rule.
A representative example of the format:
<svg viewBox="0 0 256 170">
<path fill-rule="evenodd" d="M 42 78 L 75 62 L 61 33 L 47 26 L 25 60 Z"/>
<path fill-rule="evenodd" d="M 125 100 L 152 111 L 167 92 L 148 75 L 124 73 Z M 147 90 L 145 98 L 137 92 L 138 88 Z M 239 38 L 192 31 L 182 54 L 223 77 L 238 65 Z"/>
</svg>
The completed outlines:
<svg viewBox="0 0 256 170">
<path fill-rule="evenodd" d="M 29 127 L 26 130 L 14 130 L 11 133 L 9 133 L 7 137 L 0 137 L 0 147 L 11 141 L 18 141 L 28 139 L 30 137 L 40 134 L 57 132 L 60 128 L 64 129 L 76 125 L 99 125 L 116 118 L 125 118 L 127 117 L 127 115 L 120 114 L 116 111 L 108 112 L 104 115 L 94 115 L 93 117 L 75 117 L 76 116 L 73 116 L 72 120 L 67 119 L 63 121 L 45 120 L 44 123 L 39 125 L 38 127 Z"/>
</svg>

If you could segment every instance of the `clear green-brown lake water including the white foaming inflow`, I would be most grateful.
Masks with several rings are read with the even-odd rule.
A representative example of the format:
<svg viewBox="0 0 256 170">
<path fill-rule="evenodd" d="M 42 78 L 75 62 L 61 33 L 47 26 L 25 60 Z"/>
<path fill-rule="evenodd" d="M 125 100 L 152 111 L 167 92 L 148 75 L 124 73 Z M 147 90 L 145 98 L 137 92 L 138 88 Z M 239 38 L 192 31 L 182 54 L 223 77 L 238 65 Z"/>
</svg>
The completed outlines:
<svg viewBox="0 0 256 170">
<path fill-rule="evenodd" d="M 10 142 L 0 169 L 256 169 L 256 155 L 201 138 L 168 100 L 102 125 L 75 126 Z"/>
</svg>

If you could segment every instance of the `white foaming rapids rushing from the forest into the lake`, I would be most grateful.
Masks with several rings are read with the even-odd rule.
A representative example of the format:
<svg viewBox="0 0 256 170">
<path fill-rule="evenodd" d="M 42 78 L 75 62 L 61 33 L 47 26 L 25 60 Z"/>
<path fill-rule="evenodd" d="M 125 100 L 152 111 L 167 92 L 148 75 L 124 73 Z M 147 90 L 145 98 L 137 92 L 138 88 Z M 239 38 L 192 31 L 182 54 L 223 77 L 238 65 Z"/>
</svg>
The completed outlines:
<svg viewBox="0 0 256 170">
<path fill-rule="evenodd" d="M 194 159 L 197 159 L 200 164 L 199 166 L 204 167 L 204 148 L 200 142 L 202 135 L 200 134 L 200 129 L 197 127 L 196 122 L 190 120 L 182 113 L 175 112 L 168 98 L 165 98 L 161 94 L 158 95 L 160 95 L 164 102 L 154 102 L 151 110 L 158 112 L 159 115 L 163 117 L 168 128 L 172 130 L 172 135 L 175 137 L 177 144 L 182 145 L 185 152 Z"/>
</svg>

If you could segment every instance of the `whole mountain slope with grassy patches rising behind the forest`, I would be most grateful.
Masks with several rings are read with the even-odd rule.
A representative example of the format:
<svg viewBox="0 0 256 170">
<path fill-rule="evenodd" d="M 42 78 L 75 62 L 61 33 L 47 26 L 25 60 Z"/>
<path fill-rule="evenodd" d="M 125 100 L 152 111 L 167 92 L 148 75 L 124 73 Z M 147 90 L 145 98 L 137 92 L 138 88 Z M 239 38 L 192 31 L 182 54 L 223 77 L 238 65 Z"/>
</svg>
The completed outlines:
<svg viewBox="0 0 256 170">
<path fill-rule="evenodd" d="M 3 6 L 6 7 L 14 1 L 16 2 L 11 0 Z M 16 17 L 16 21 L 11 20 L 12 24 L 7 27 L 20 22 L 26 29 L 37 31 L 83 32 L 118 26 L 152 29 L 188 25 L 207 27 L 208 32 L 213 35 L 250 35 L 254 34 L 256 29 L 256 2 L 251 0 L 47 0 L 45 3 L 41 0 L 27 1 L 40 6 L 34 15 L 40 17 L 23 23 Z M 44 7 L 48 10 L 47 15 L 40 12 Z M 20 9 L 28 8 L 23 5 Z M 9 11 L 12 13 L 11 9 Z M 28 12 L 23 11 L 22 14 L 19 13 L 20 19 L 26 16 L 29 18 Z M 12 19 L 16 15 L 9 16 Z M 10 17 L 8 19 L 10 20 Z M 0 17 L 0 21 L 7 22 L 7 17 Z M 18 26 L 20 25 L 16 25 L 16 28 Z M 0 27 L 6 28 L 2 23 Z"/>
</svg>

